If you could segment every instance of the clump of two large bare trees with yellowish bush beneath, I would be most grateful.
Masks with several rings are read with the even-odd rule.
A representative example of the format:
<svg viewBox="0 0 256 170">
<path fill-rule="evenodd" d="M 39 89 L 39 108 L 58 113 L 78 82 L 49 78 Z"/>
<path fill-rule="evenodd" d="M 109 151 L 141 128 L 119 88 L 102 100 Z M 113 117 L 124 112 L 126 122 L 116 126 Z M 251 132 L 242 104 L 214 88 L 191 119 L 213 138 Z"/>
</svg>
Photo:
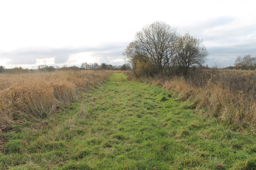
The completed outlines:
<svg viewBox="0 0 256 170">
<path fill-rule="evenodd" d="M 203 40 L 157 21 L 137 32 L 123 55 L 139 76 L 187 75 L 191 66 L 204 64 L 208 51 Z"/>
</svg>

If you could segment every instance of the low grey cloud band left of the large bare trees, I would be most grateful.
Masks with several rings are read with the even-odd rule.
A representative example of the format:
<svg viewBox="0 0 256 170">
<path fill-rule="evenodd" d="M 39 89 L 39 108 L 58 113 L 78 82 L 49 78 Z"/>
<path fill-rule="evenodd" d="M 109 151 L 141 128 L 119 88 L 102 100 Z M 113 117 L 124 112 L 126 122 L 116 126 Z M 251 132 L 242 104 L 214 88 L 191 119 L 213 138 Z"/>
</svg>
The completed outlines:
<svg viewBox="0 0 256 170">
<path fill-rule="evenodd" d="M 117 44 L 117 45 L 116 45 Z M 0 51 L 0 60 L 8 59 L 7 65 L 35 65 L 38 59 L 52 59 L 54 64 L 73 64 L 77 59 L 72 59 L 72 56 L 85 53 L 90 53 L 99 63 L 106 62 L 109 64 L 117 64 L 114 59 L 122 59 L 122 51 L 128 42 L 108 43 L 97 46 L 80 46 L 80 47 L 65 47 L 65 48 L 49 48 L 49 47 L 26 47 L 12 51 Z M 86 59 L 84 59 L 86 62 Z M 47 61 L 47 60 L 40 60 Z M 76 61 L 77 62 L 77 61 Z"/>
</svg>

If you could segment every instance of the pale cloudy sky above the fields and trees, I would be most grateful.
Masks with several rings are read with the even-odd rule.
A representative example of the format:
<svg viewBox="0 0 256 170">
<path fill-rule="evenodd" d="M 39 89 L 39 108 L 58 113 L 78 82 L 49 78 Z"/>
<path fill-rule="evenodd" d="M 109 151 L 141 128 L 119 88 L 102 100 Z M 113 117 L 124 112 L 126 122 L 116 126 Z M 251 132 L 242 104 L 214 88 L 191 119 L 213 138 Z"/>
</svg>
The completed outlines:
<svg viewBox="0 0 256 170">
<path fill-rule="evenodd" d="M 0 65 L 122 65 L 136 32 L 155 21 L 202 39 L 205 65 L 256 57 L 255 0 L 0 0 Z"/>
</svg>

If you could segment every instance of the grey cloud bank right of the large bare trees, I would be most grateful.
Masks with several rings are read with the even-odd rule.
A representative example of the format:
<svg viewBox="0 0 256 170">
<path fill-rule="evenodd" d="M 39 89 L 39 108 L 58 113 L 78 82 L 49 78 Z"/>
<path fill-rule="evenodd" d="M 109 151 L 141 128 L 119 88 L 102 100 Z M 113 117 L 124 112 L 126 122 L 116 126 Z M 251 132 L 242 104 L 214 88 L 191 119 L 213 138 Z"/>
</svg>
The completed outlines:
<svg viewBox="0 0 256 170">
<path fill-rule="evenodd" d="M 233 66 L 238 56 L 256 57 L 256 23 L 243 26 L 240 22 L 237 18 L 222 16 L 187 26 L 186 31 L 204 40 L 209 51 L 206 64 L 217 62 L 223 67 Z M 184 32 L 185 28 L 181 30 Z"/>
</svg>

